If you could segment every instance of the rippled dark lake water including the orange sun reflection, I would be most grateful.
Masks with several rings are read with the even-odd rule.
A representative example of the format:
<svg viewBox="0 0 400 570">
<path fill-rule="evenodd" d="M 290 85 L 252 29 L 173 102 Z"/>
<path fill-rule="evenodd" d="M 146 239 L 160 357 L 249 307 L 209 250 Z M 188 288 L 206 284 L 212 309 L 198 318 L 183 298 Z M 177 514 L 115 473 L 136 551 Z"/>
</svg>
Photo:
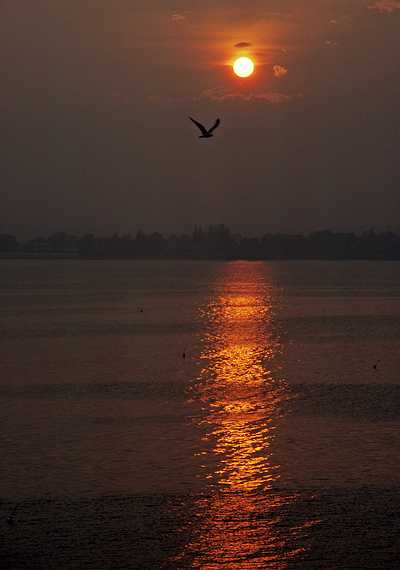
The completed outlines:
<svg viewBox="0 0 400 570">
<path fill-rule="evenodd" d="M 399 347 L 396 263 L 0 261 L 0 558 L 396 568 Z"/>
</svg>

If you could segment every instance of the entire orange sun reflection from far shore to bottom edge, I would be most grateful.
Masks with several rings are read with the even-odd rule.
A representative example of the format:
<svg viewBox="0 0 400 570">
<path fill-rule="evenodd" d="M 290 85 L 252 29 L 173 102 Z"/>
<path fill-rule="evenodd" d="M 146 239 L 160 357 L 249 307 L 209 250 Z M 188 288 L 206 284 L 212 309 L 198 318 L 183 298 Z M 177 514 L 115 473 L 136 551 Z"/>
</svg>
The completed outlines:
<svg viewBox="0 0 400 570">
<path fill-rule="evenodd" d="M 204 569 L 281 569 L 303 548 L 289 545 L 278 514 L 296 495 L 271 491 L 279 479 L 271 444 L 288 398 L 271 371 L 280 349 L 275 293 L 263 263 L 221 267 L 202 310 L 203 368 L 192 390 L 202 406 L 196 421 L 208 491 L 198 500 L 198 527 L 181 561 Z M 291 529 L 291 544 L 301 531 Z"/>
</svg>

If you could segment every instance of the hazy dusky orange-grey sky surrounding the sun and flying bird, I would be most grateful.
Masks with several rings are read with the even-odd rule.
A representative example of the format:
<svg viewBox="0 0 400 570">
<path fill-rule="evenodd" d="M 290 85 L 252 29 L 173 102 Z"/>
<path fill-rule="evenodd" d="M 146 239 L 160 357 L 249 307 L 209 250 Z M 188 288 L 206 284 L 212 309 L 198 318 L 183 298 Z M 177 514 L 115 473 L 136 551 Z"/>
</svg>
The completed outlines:
<svg viewBox="0 0 400 570">
<path fill-rule="evenodd" d="M 400 230 L 400 0 L 1 0 L 0 69 L 0 231 Z"/>
</svg>

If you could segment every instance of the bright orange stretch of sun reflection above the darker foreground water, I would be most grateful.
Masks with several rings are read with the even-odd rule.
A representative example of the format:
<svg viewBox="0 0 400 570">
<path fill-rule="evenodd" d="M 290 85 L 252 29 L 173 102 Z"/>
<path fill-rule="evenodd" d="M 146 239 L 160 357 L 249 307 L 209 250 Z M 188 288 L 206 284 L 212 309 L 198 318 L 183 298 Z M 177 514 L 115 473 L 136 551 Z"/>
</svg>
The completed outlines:
<svg viewBox="0 0 400 570">
<path fill-rule="evenodd" d="M 261 490 L 278 477 L 268 449 L 285 387 L 268 366 L 279 342 L 272 336 L 272 292 L 258 275 L 261 267 L 227 265 L 203 311 L 207 334 L 194 390 L 205 404 L 201 423 L 219 457 L 214 479 L 221 491 Z"/>
</svg>

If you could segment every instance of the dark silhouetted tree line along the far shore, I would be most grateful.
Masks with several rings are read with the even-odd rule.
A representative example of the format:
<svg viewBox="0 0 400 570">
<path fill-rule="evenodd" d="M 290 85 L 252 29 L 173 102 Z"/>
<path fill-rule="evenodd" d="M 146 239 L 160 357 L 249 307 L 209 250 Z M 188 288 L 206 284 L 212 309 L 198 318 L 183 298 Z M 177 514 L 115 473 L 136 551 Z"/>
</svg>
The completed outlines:
<svg viewBox="0 0 400 570">
<path fill-rule="evenodd" d="M 400 235 L 370 229 L 361 234 L 330 230 L 306 235 L 267 233 L 244 237 L 224 224 L 196 226 L 191 235 L 159 232 L 109 237 L 56 232 L 19 242 L 0 234 L 2 257 L 78 257 L 84 259 L 386 259 L 400 260 Z"/>
</svg>

